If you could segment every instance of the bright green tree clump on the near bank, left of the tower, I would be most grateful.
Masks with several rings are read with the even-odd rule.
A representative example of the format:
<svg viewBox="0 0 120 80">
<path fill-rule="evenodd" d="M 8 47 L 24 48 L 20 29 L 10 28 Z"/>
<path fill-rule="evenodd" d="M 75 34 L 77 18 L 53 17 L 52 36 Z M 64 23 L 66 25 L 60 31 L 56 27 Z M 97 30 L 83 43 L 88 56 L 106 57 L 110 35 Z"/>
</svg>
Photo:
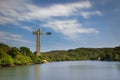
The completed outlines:
<svg viewBox="0 0 120 80">
<path fill-rule="evenodd" d="M 9 47 L 0 43 L 0 66 L 41 63 L 41 59 L 27 47 Z"/>
</svg>

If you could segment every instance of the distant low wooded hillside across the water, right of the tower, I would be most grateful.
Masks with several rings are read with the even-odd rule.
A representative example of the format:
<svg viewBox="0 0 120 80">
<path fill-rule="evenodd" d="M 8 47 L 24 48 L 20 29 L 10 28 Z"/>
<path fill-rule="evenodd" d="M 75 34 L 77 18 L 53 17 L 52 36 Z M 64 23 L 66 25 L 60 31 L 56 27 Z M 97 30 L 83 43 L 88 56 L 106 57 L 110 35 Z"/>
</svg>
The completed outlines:
<svg viewBox="0 0 120 80">
<path fill-rule="evenodd" d="M 48 61 L 120 61 L 120 46 L 115 48 L 77 48 L 66 51 L 51 51 L 43 53 L 41 58 Z"/>
</svg>

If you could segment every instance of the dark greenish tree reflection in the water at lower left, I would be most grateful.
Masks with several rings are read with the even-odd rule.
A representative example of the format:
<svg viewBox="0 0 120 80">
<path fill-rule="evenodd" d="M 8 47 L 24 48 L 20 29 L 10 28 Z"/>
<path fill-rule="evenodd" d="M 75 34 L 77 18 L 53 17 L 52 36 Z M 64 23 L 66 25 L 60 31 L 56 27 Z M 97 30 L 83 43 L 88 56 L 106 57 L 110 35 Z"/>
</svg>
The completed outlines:
<svg viewBox="0 0 120 80">
<path fill-rule="evenodd" d="M 0 68 L 0 80 L 28 80 L 29 73 L 28 66 Z"/>
</svg>

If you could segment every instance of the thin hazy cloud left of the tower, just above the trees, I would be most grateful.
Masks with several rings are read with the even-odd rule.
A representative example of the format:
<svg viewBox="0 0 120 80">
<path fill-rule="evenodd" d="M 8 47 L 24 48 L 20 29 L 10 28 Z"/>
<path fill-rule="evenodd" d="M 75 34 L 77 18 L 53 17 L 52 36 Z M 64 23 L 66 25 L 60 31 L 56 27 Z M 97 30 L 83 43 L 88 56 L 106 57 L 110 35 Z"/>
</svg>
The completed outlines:
<svg viewBox="0 0 120 80">
<path fill-rule="evenodd" d="M 33 43 L 31 41 L 23 39 L 23 37 L 21 35 L 13 34 L 10 32 L 4 32 L 4 31 L 0 31 L 0 40 L 1 41 L 9 41 L 9 42 L 15 41 L 15 42 L 25 43 L 25 44 Z"/>
</svg>

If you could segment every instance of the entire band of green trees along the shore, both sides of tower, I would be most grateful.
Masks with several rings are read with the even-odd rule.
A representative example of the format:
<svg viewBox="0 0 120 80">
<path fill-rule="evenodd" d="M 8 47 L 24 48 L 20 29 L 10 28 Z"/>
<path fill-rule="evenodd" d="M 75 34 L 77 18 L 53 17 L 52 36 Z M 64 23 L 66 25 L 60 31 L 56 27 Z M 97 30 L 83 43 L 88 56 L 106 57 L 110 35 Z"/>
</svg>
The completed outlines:
<svg viewBox="0 0 120 80">
<path fill-rule="evenodd" d="M 27 47 L 9 47 L 0 43 L 0 66 L 39 64 L 44 60 L 49 62 L 74 60 L 120 61 L 120 46 L 114 48 L 56 50 L 44 52 L 38 57 Z"/>
</svg>

